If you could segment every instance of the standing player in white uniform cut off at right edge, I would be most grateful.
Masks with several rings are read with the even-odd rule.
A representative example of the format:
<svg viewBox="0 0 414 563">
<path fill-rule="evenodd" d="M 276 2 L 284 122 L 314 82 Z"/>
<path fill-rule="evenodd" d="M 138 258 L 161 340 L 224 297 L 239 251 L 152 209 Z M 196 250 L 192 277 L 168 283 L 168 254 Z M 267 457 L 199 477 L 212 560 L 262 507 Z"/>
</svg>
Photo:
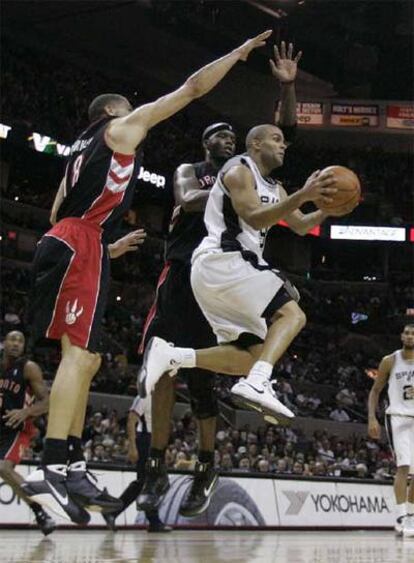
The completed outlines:
<svg viewBox="0 0 414 563">
<path fill-rule="evenodd" d="M 395 530 L 414 537 L 414 324 L 405 325 L 401 341 L 402 349 L 384 356 L 379 365 L 368 399 L 368 434 L 376 440 L 381 436 L 376 410 L 381 391 L 388 383 L 388 434 L 397 465 Z M 407 492 L 409 474 L 411 484 Z"/>
</svg>

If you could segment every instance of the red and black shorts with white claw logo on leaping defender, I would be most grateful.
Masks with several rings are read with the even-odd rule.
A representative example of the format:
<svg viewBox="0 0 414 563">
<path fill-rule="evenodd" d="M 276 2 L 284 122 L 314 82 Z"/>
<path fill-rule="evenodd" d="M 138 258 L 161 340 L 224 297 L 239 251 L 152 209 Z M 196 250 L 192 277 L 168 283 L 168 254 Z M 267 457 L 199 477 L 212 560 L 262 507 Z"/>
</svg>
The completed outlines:
<svg viewBox="0 0 414 563">
<path fill-rule="evenodd" d="M 70 217 L 40 240 L 30 300 L 34 341 L 67 334 L 74 345 L 99 349 L 109 289 L 109 255 L 101 235 L 100 227 Z"/>
</svg>

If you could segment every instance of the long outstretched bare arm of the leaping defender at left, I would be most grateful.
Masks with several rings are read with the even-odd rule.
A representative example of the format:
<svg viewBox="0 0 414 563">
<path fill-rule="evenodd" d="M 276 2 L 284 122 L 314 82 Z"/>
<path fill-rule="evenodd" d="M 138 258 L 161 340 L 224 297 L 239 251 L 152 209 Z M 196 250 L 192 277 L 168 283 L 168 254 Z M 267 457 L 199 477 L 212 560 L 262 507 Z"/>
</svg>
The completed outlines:
<svg viewBox="0 0 414 563">
<path fill-rule="evenodd" d="M 191 75 L 178 90 L 137 108 L 125 117 L 113 119 L 106 132 L 108 145 L 124 154 L 135 152 L 136 147 L 152 127 L 168 119 L 193 100 L 207 94 L 238 61 L 245 61 L 253 49 L 265 45 L 271 33 L 270 30 L 265 31 L 249 39 L 228 55 L 206 65 Z"/>
</svg>

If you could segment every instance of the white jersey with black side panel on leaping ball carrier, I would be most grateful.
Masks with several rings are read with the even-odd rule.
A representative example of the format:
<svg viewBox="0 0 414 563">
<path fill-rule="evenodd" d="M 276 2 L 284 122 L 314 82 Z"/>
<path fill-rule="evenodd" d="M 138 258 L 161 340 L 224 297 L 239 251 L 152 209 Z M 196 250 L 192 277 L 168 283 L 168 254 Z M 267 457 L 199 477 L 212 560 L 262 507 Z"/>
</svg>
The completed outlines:
<svg viewBox="0 0 414 563">
<path fill-rule="evenodd" d="M 247 166 L 252 172 L 257 195 L 263 205 L 280 201 L 281 184 L 271 178 L 263 178 L 256 163 L 247 154 L 231 158 L 220 170 L 210 191 L 204 214 L 207 236 L 195 249 L 193 260 L 204 252 L 249 251 L 257 256 L 259 264 L 266 265 L 262 253 L 268 229 L 260 231 L 253 229 L 237 215 L 231 203 L 229 190 L 223 183 L 225 173 L 238 164 Z"/>
</svg>

